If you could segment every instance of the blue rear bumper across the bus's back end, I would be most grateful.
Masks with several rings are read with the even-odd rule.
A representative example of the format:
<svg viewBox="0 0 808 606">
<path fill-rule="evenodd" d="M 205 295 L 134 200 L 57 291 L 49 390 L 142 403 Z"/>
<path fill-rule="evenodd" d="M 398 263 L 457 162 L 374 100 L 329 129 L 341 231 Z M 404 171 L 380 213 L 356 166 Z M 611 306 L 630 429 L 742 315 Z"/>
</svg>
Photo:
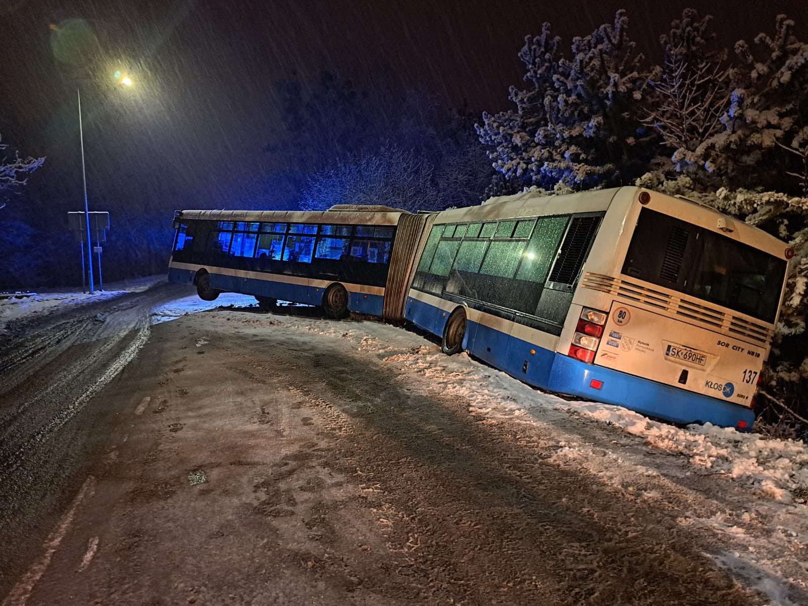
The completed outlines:
<svg viewBox="0 0 808 606">
<path fill-rule="evenodd" d="M 599 383 L 593 381 L 600 381 L 600 389 L 595 387 Z M 744 406 L 585 364 L 559 353 L 553 360 L 548 389 L 624 406 L 672 423 L 713 423 L 739 431 L 749 431 L 755 423 L 755 413 Z"/>
</svg>

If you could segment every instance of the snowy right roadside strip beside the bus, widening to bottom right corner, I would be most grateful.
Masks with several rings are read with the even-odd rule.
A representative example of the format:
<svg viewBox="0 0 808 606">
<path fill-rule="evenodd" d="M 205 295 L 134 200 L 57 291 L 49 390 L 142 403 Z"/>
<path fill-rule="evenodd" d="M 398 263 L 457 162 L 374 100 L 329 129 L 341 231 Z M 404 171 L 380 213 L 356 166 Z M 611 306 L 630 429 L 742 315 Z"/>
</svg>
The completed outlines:
<svg viewBox="0 0 808 606">
<path fill-rule="evenodd" d="M 223 307 L 255 305 L 227 294 L 205 302 L 185 297 L 155 309 L 152 322 Z M 585 470 L 625 499 L 642 500 L 699 528 L 711 539 L 711 557 L 733 570 L 771 604 L 792 606 L 808 591 L 808 446 L 713 426 L 674 427 L 619 406 L 570 402 L 542 393 L 472 360 L 444 356 L 435 343 L 375 321 L 332 322 L 305 314 L 234 314 L 250 330 L 295 330 L 316 339 L 340 339 L 412 389 L 468 402 L 478 423 L 513 427 L 513 440 L 540 430 L 553 444 L 550 462 Z M 234 322 L 234 325 L 236 324 Z M 234 326 L 235 328 L 235 326 Z M 239 329 L 241 330 L 241 329 Z M 524 435 L 519 427 L 525 427 Z M 790 597 L 789 597 L 790 596 Z"/>
</svg>

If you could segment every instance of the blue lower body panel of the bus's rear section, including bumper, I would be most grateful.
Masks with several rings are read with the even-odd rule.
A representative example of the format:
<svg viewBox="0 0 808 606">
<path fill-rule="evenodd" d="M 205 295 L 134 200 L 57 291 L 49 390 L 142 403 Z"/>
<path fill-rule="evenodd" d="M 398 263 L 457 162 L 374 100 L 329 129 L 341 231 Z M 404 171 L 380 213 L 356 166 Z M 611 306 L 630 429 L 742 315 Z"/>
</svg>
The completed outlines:
<svg viewBox="0 0 808 606">
<path fill-rule="evenodd" d="M 408 297 L 405 318 L 442 337 L 448 313 Z M 672 423 L 713 423 L 749 430 L 755 422 L 755 413 L 743 406 L 585 364 L 477 322 L 466 322 L 465 341 L 473 356 L 541 389 L 624 406 Z M 601 381 L 600 389 L 591 386 L 592 380 Z"/>
</svg>

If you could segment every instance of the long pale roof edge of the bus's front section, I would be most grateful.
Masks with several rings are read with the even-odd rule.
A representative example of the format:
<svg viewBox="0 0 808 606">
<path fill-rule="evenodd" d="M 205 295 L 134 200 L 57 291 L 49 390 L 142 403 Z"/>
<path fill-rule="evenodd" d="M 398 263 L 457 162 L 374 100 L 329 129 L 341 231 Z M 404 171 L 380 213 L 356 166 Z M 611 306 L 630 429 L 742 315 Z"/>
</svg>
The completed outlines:
<svg viewBox="0 0 808 606">
<path fill-rule="evenodd" d="M 265 221 L 267 223 L 338 223 L 343 225 L 398 225 L 402 210 L 181 210 L 176 218 L 196 221 Z"/>
</svg>

